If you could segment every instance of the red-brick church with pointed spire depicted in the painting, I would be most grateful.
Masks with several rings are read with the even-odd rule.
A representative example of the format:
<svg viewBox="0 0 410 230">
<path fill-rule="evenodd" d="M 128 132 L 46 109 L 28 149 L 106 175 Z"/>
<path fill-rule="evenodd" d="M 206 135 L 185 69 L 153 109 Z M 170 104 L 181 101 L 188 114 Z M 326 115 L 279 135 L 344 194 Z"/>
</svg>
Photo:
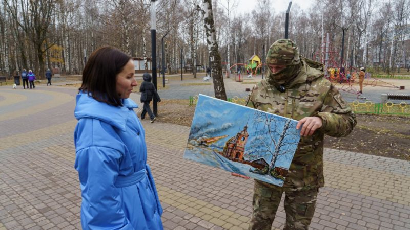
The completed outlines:
<svg viewBox="0 0 410 230">
<path fill-rule="evenodd" d="M 222 156 L 239 162 L 242 164 L 248 164 L 243 160 L 243 154 L 245 152 L 245 146 L 247 145 L 249 134 L 247 132 L 248 124 L 243 127 L 242 131 L 239 131 L 235 136 L 231 137 L 223 147 Z"/>
</svg>

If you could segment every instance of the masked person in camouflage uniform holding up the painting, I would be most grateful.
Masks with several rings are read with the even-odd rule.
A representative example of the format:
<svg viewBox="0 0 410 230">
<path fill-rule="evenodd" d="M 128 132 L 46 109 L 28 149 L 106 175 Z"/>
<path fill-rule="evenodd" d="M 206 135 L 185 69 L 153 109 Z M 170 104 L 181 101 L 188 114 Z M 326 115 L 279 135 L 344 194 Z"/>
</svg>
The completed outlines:
<svg viewBox="0 0 410 230">
<path fill-rule="evenodd" d="M 308 229 L 324 186 L 324 134 L 346 136 L 356 125 L 356 116 L 323 78 L 323 65 L 299 55 L 293 41 L 274 42 L 266 62 L 269 75 L 254 86 L 247 106 L 298 120 L 301 139 L 283 187 L 255 180 L 249 229 L 271 229 L 283 192 L 284 229 Z"/>
</svg>

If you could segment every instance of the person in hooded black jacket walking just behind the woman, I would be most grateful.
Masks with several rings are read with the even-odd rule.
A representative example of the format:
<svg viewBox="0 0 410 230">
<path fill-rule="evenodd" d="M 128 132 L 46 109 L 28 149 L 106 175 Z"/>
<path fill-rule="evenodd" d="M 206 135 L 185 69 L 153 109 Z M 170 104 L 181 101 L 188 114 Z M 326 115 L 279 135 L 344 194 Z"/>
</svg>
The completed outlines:
<svg viewBox="0 0 410 230">
<path fill-rule="evenodd" d="M 141 120 L 145 118 L 145 114 L 148 112 L 148 115 L 151 119 L 151 123 L 153 123 L 156 120 L 156 118 L 154 116 L 154 113 L 151 111 L 150 102 L 151 100 L 156 100 L 157 102 L 160 102 L 161 99 L 159 98 L 159 95 L 157 93 L 157 90 L 155 89 L 154 84 L 151 82 L 151 74 L 144 73 L 144 75 L 142 75 L 142 79 L 144 79 L 144 82 L 142 82 L 141 86 L 139 87 L 139 91 L 142 93 L 141 102 L 144 103 L 144 109 L 142 109 L 141 113 Z"/>
</svg>

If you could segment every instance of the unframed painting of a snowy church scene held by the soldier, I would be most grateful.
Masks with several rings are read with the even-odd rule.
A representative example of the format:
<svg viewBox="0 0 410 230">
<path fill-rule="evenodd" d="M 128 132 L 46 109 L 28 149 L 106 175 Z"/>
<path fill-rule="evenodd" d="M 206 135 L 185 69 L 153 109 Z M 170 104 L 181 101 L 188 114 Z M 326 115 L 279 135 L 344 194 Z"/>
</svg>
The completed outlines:
<svg viewBox="0 0 410 230">
<path fill-rule="evenodd" d="M 297 121 L 199 95 L 184 158 L 282 187 Z"/>
</svg>

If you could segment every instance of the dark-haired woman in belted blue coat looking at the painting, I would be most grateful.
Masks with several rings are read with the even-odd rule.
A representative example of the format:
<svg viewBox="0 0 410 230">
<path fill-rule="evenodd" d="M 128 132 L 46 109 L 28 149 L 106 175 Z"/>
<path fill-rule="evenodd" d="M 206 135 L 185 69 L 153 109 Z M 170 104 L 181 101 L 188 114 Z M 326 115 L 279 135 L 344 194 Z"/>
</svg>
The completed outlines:
<svg viewBox="0 0 410 230">
<path fill-rule="evenodd" d="M 83 229 L 163 229 L 145 131 L 129 99 L 135 86 L 131 57 L 110 47 L 91 54 L 74 112 Z"/>
</svg>

